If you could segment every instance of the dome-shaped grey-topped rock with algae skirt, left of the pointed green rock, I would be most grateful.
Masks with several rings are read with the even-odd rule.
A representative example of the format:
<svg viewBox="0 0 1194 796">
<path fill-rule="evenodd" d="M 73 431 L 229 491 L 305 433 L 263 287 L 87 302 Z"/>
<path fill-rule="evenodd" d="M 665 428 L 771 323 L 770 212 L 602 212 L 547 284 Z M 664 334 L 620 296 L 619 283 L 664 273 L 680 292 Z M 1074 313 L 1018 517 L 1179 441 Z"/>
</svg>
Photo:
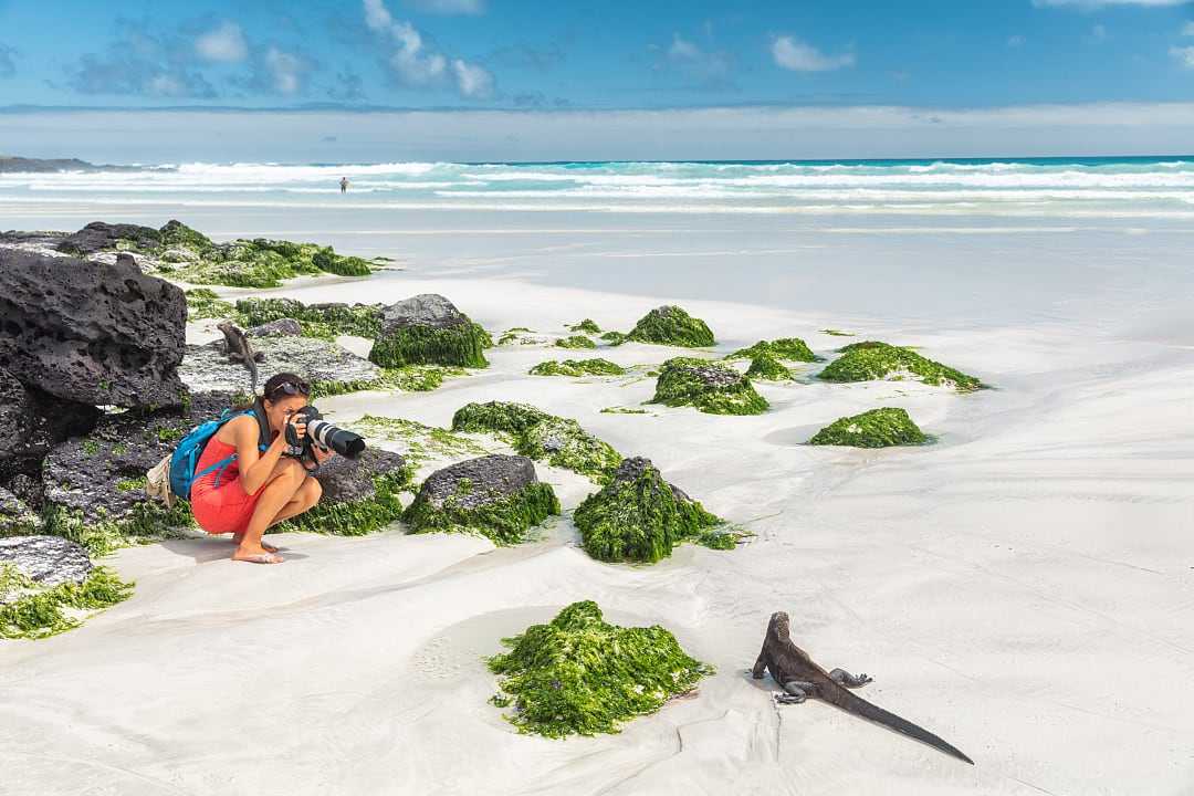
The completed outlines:
<svg viewBox="0 0 1194 796">
<path fill-rule="evenodd" d="M 494 544 L 517 544 L 560 501 L 524 456 L 481 456 L 436 470 L 402 514 L 412 533 L 473 532 Z"/>
</svg>

